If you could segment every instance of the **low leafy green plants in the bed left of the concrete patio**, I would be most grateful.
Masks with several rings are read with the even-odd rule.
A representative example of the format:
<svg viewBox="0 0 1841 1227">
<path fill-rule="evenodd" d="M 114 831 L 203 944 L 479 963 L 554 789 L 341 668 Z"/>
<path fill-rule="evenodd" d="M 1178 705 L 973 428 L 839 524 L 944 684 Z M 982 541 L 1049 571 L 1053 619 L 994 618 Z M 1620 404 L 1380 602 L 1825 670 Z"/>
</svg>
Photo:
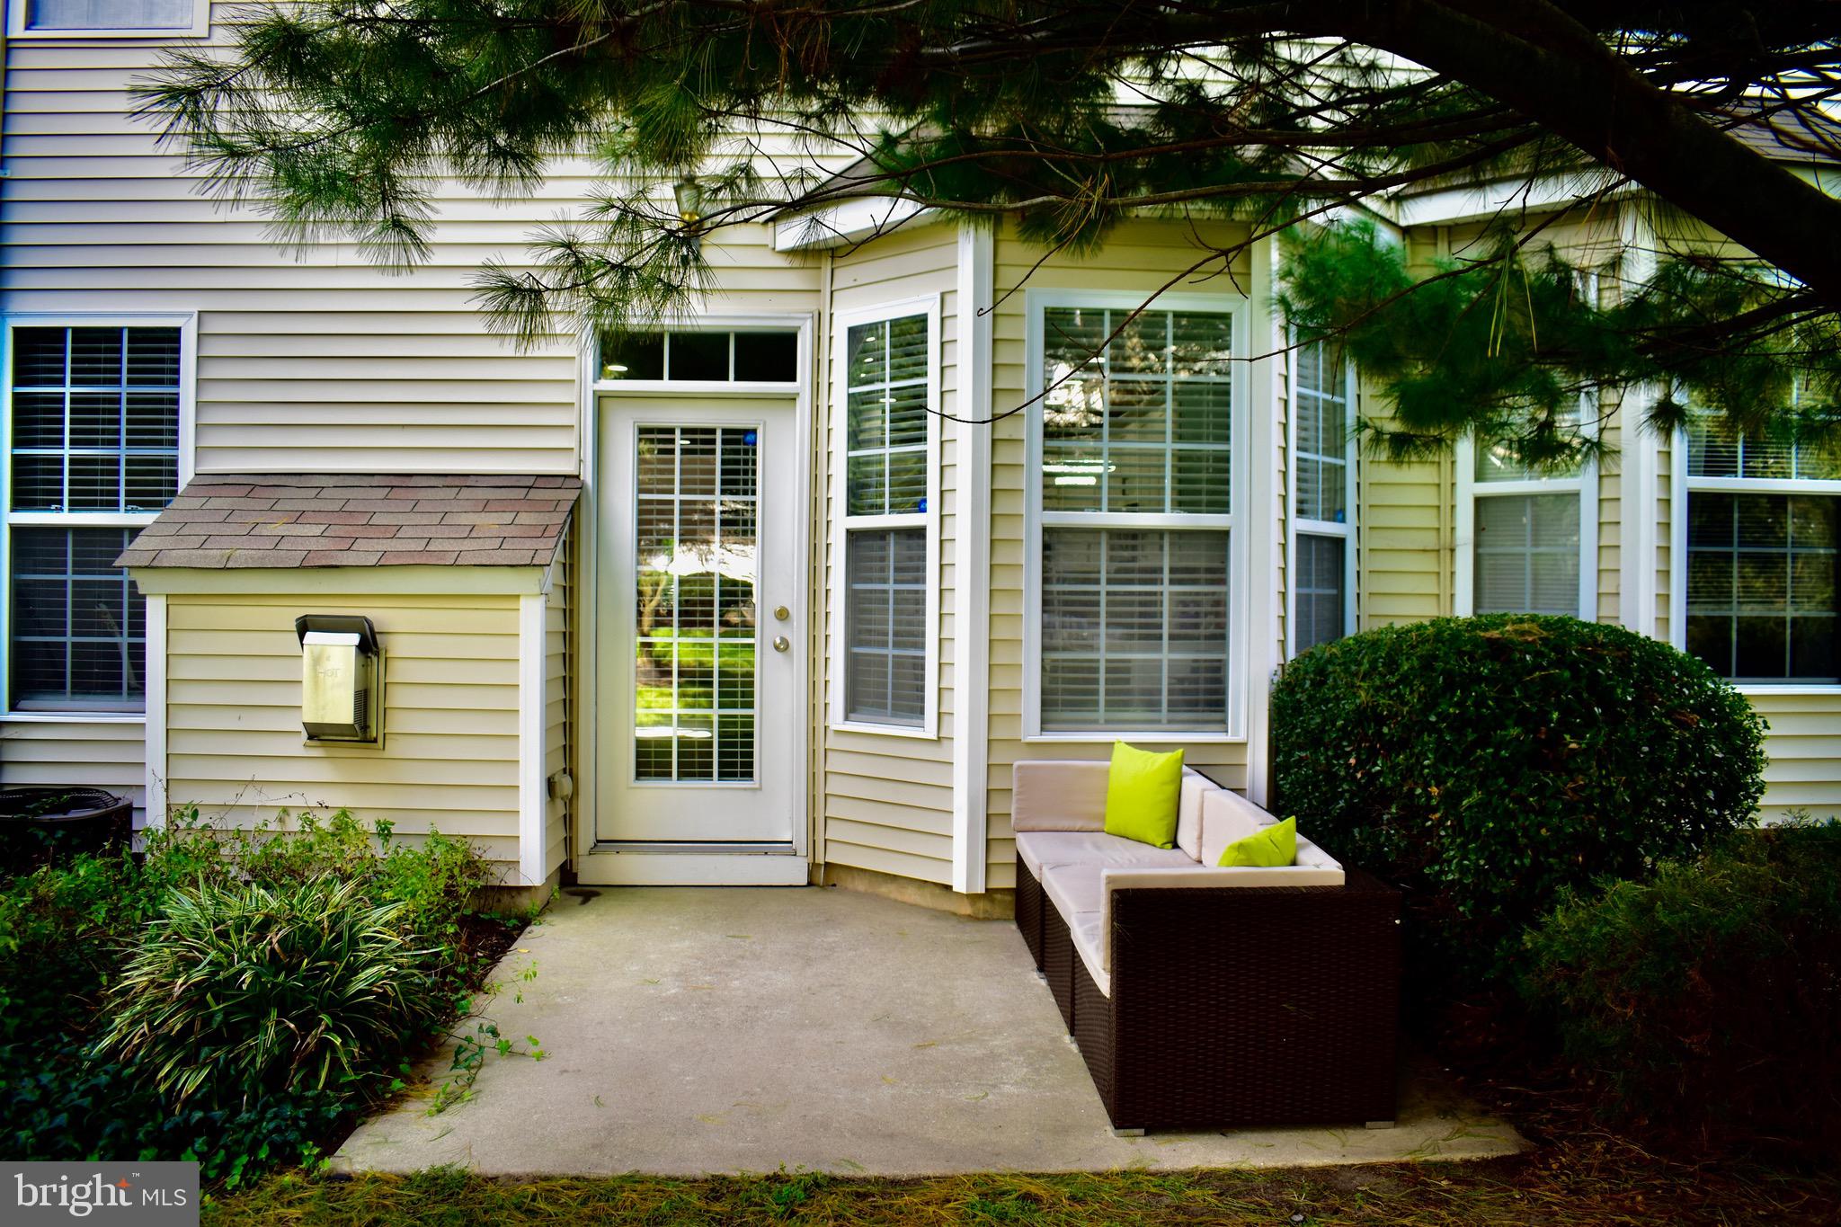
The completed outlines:
<svg viewBox="0 0 1841 1227">
<path fill-rule="evenodd" d="M 0 879 L 0 1153 L 197 1159 L 228 1183 L 311 1159 L 455 1019 L 503 942 L 475 912 L 488 881 L 464 839 L 342 811 L 263 831 L 180 813 L 144 857 Z"/>
</svg>

